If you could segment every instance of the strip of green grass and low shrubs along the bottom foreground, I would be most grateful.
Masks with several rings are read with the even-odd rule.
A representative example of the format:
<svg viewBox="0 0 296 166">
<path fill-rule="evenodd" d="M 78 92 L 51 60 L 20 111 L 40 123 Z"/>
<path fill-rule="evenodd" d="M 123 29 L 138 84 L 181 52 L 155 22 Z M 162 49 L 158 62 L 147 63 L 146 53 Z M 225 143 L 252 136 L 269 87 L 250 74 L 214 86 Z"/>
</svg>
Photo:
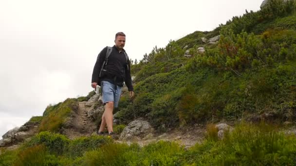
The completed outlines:
<svg viewBox="0 0 296 166">
<path fill-rule="evenodd" d="M 113 143 L 103 136 L 69 140 L 43 132 L 16 150 L 0 154 L 1 166 L 292 166 L 296 164 L 296 138 L 277 132 L 274 125 L 240 123 L 231 133 L 216 138 L 214 124 L 202 143 L 184 149 L 175 142 L 159 141 L 143 148 Z"/>
</svg>

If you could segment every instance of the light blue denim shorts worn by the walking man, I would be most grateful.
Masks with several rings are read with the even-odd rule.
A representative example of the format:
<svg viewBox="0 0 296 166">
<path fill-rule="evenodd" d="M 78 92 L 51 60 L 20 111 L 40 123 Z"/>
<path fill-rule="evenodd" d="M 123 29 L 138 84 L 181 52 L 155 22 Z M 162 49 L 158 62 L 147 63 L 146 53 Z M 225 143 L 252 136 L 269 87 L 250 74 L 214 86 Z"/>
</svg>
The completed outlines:
<svg viewBox="0 0 296 166">
<path fill-rule="evenodd" d="M 114 102 L 114 107 L 118 107 L 120 95 L 121 95 L 121 88 L 120 86 L 117 86 L 115 89 L 115 86 L 113 83 L 109 83 L 108 81 L 102 81 L 101 82 L 101 88 L 102 88 L 102 100 L 103 103 L 106 104 L 109 101 Z"/>
</svg>

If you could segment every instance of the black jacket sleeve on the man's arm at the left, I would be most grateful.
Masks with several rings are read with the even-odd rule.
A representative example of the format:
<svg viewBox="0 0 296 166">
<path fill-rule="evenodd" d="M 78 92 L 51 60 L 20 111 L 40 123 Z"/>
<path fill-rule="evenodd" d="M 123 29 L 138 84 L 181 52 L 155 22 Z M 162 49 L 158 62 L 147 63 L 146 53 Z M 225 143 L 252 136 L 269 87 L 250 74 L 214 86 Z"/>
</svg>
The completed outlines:
<svg viewBox="0 0 296 166">
<path fill-rule="evenodd" d="M 99 82 L 99 73 L 102 68 L 103 62 L 105 60 L 107 53 L 107 47 L 105 47 L 101 52 L 98 54 L 96 58 L 96 62 L 93 67 L 92 71 L 92 83 L 98 83 Z"/>
</svg>

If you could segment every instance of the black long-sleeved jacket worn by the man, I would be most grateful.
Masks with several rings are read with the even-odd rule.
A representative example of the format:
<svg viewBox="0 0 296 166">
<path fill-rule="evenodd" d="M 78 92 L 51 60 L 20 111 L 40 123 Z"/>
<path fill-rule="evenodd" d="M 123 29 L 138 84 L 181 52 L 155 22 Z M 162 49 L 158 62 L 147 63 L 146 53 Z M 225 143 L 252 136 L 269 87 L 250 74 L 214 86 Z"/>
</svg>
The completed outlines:
<svg viewBox="0 0 296 166">
<path fill-rule="evenodd" d="M 99 55 L 97 56 L 96 63 L 93 67 L 92 71 L 92 83 L 100 84 L 101 81 L 108 81 L 114 83 L 114 77 L 116 76 L 116 83 L 120 85 L 120 83 L 125 82 L 129 91 L 133 91 L 133 86 L 131 82 L 130 76 L 130 62 L 128 60 L 128 64 L 126 64 L 126 56 L 124 54 L 125 50 L 122 50 L 119 53 L 119 50 L 113 46 L 112 52 L 108 58 L 108 63 L 104 67 L 107 70 L 102 78 L 99 78 L 99 73 L 102 68 L 103 62 L 106 58 L 107 47 L 105 47 Z"/>
</svg>

